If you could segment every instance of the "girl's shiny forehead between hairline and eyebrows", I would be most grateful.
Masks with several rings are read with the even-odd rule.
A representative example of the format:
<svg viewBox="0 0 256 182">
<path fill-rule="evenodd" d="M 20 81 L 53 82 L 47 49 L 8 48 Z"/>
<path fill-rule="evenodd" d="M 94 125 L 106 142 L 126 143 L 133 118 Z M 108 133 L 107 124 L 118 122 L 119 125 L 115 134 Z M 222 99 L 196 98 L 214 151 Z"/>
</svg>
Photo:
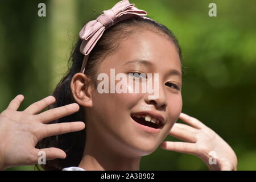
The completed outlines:
<svg viewBox="0 0 256 182">
<path fill-rule="evenodd" d="M 181 71 L 179 53 L 167 36 L 153 31 L 140 31 L 119 43 L 115 51 L 105 58 L 105 68 L 122 67 L 131 60 L 148 60 L 159 69 L 174 68 Z"/>
</svg>

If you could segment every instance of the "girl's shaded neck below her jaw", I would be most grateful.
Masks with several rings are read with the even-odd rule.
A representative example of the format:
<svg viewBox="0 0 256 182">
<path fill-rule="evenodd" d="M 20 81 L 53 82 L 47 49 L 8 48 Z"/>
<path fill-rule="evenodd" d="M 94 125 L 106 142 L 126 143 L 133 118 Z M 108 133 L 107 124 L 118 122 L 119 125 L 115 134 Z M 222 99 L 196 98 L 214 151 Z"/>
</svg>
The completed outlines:
<svg viewBox="0 0 256 182">
<path fill-rule="evenodd" d="M 117 151 L 116 143 L 109 143 L 96 135 L 86 134 L 85 150 L 79 167 L 88 171 L 138 171 L 141 156 L 125 155 Z"/>
</svg>

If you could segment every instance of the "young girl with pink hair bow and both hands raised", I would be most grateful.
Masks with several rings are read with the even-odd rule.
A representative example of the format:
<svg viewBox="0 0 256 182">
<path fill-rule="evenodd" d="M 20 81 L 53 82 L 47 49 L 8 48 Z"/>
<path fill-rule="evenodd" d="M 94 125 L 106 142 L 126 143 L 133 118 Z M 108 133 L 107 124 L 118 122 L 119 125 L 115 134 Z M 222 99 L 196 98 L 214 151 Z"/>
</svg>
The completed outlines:
<svg viewBox="0 0 256 182">
<path fill-rule="evenodd" d="M 196 155 L 210 170 L 237 169 L 228 143 L 181 113 L 179 44 L 168 28 L 145 15 L 127 0 L 104 11 L 82 28 L 72 67 L 54 97 L 24 111 L 16 111 L 23 96 L 11 101 L 0 115 L 1 169 L 36 164 L 44 151 L 47 162 L 42 167 L 48 170 L 139 170 L 142 156 L 159 146 Z M 121 77 L 113 71 L 122 81 L 144 73 L 144 81 L 158 84 L 158 94 L 134 93 L 133 82 L 127 80 L 122 89 L 129 92 L 116 92 Z M 143 86 L 144 81 L 134 82 Z M 188 125 L 175 123 L 178 118 Z M 185 142 L 163 142 L 168 134 Z"/>
</svg>

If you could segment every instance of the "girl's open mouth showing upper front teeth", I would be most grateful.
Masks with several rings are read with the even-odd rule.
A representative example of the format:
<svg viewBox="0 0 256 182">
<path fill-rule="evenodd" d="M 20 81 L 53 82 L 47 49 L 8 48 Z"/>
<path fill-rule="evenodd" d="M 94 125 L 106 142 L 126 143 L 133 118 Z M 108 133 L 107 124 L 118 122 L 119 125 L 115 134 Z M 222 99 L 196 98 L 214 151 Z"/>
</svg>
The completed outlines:
<svg viewBox="0 0 256 182">
<path fill-rule="evenodd" d="M 146 114 L 132 114 L 131 118 L 141 125 L 152 127 L 154 129 L 161 129 L 163 127 L 162 122 L 158 118 L 151 117 Z"/>
</svg>

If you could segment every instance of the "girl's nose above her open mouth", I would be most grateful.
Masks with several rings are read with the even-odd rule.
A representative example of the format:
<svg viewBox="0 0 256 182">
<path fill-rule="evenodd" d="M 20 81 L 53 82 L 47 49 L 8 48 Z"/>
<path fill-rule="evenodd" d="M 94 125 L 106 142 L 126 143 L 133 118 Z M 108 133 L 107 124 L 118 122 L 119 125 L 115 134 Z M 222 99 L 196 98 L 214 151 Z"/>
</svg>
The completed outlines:
<svg viewBox="0 0 256 182">
<path fill-rule="evenodd" d="M 166 93 L 164 92 L 164 88 L 162 85 L 161 86 L 159 85 L 158 89 L 159 89 L 158 97 L 149 99 L 150 98 L 148 97 L 149 94 L 146 94 L 145 102 L 149 105 L 155 105 L 156 109 L 165 110 L 167 107 Z"/>
</svg>

